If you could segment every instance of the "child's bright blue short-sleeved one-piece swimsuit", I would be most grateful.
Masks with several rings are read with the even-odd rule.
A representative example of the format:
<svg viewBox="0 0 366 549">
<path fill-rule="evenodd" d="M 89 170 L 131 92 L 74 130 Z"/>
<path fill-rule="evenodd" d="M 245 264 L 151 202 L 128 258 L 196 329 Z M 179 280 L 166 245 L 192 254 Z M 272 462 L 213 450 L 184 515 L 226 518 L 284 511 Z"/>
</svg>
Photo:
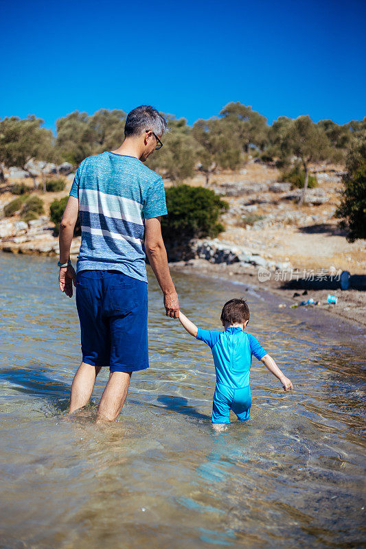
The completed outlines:
<svg viewBox="0 0 366 549">
<path fill-rule="evenodd" d="M 254 336 L 240 327 L 231 326 L 225 331 L 198 328 L 196 337 L 207 343 L 214 357 L 216 389 L 212 423 L 230 423 L 230 409 L 240 421 L 247 421 L 251 409 L 251 357 L 261 360 L 266 351 Z"/>
</svg>

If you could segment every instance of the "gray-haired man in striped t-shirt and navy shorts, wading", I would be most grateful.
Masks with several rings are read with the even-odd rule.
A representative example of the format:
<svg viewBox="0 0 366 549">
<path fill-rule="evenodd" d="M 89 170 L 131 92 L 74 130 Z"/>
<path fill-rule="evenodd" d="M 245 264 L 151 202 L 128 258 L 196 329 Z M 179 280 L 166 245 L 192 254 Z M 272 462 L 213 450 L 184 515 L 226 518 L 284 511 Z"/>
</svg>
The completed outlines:
<svg viewBox="0 0 366 549">
<path fill-rule="evenodd" d="M 117 150 L 84 159 L 60 222 L 60 290 L 76 285 L 82 363 L 71 385 L 69 413 L 85 406 L 102 366 L 110 375 L 97 421 L 122 410 L 133 371 L 148 368 L 146 255 L 164 296 L 165 314 L 178 318 L 179 302 L 161 236 L 163 180 L 144 161 L 161 148 L 166 120 L 151 106 L 128 114 Z M 69 261 L 80 211 L 82 240 L 76 271 Z"/>
</svg>

